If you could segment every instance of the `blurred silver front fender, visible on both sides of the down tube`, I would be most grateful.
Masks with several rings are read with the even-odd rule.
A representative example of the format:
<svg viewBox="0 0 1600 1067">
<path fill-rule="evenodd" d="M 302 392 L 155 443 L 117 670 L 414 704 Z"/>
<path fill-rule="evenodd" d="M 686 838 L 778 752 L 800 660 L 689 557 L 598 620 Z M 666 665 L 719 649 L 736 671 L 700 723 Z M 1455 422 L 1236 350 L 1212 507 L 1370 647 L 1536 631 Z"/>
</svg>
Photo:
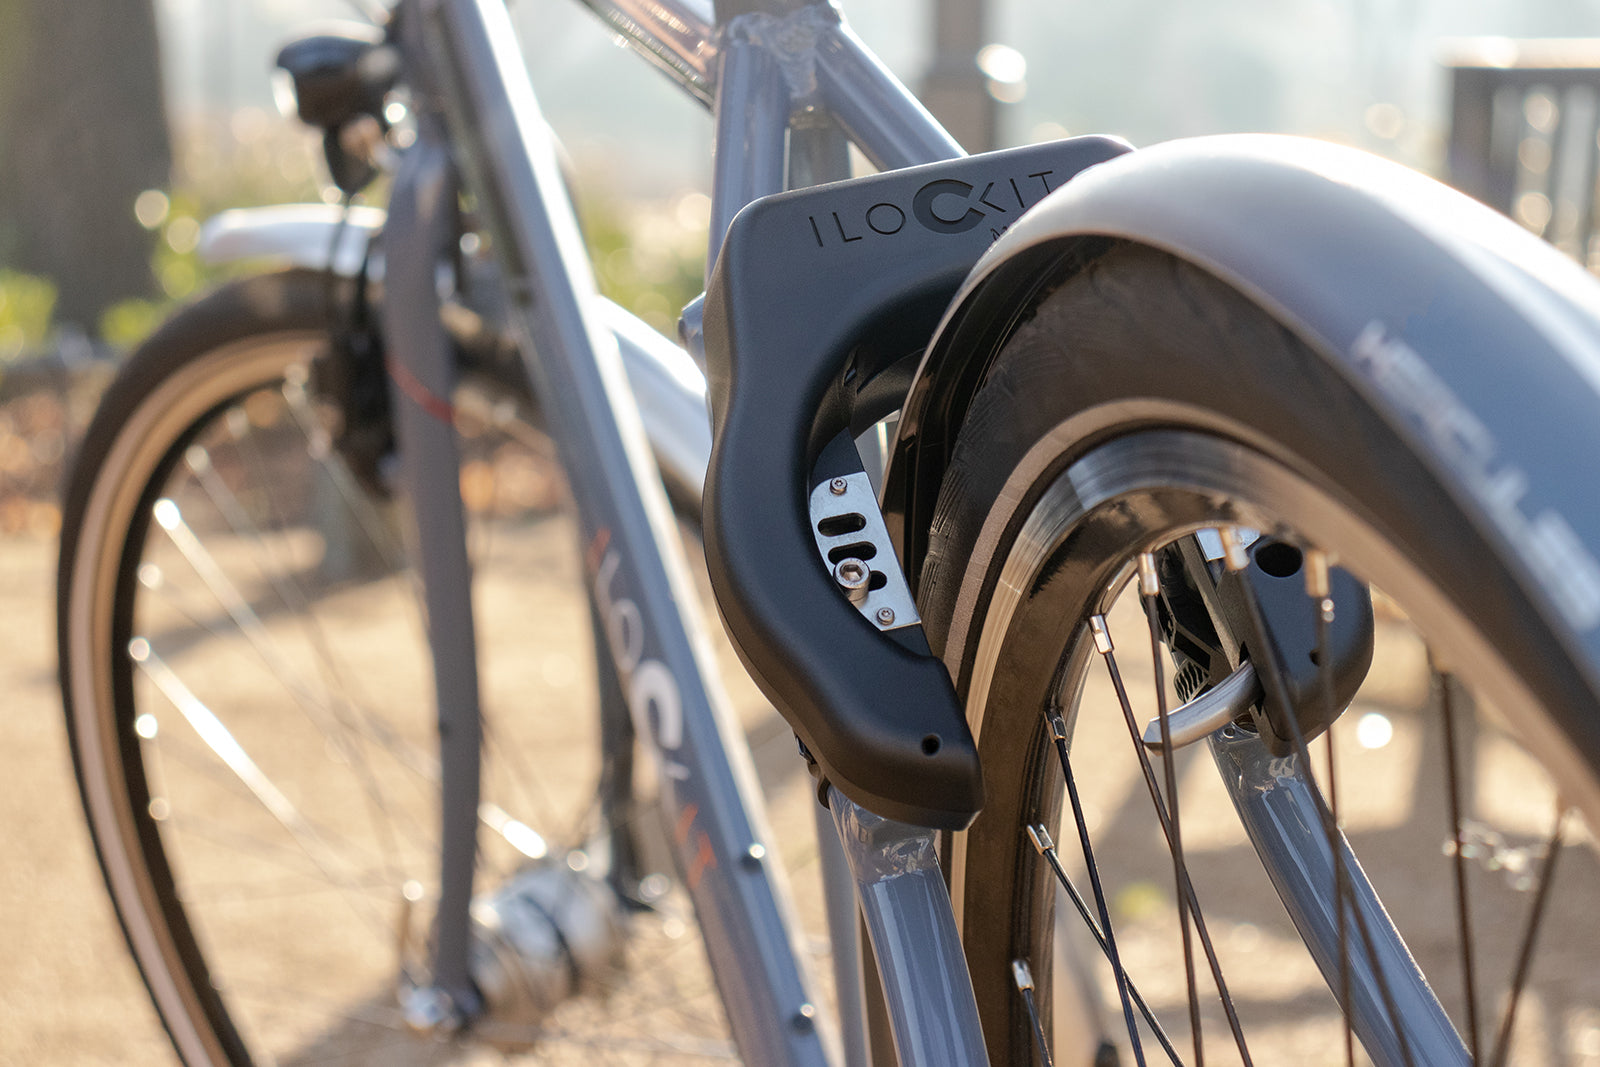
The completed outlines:
<svg viewBox="0 0 1600 1067">
<path fill-rule="evenodd" d="M 200 230 L 198 253 L 206 262 L 270 259 L 307 270 L 331 264 L 336 274 L 354 277 L 386 216 L 381 208 L 354 206 L 342 230 L 341 218 L 344 210 L 326 203 L 224 211 Z M 674 488 L 698 501 L 710 459 L 706 376 L 682 347 L 611 301 L 602 302 L 656 462 Z"/>
</svg>

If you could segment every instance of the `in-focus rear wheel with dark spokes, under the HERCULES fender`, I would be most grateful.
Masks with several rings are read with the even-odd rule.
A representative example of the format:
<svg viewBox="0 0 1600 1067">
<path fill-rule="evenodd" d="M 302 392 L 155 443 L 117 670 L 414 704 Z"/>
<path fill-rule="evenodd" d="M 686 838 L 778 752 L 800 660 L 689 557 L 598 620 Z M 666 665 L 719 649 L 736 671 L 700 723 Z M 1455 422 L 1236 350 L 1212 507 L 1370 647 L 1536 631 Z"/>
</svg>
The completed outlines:
<svg viewBox="0 0 1600 1067">
<path fill-rule="evenodd" d="M 968 410 L 920 590 L 990 782 L 947 867 L 992 1062 L 1112 1032 L 1123 1062 L 1586 1054 L 1595 694 L 1477 530 L 1210 275 L 1120 246 L 1040 302 Z M 1179 747 L 1160 585 L 1258 539 L 1307 625 L 1341 608 L 1328 560 L 1371 585 L 1373 667 L 1288 755 L 1243 713 Z"/>
</svg>

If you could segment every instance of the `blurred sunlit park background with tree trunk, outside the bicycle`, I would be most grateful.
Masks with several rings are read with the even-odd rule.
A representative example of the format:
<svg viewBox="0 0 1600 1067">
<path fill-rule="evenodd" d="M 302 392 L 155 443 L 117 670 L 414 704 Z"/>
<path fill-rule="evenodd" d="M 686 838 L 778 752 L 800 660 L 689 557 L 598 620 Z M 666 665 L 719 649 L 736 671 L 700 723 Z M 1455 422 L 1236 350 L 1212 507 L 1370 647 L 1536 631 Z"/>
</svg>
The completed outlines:
<svg viewBox="0 0 1600 1067">
<path fill-rule="evenodd" d="M 1277 131 L 1454 181 L 1594 267 L 1600 0 L 854 0 L 971 149 Z M 672 331 L 699 290 L 707 112 L 579 5 L 514 0 L 602 288 Z M 50 611 L 62 466 L 118 360 L 240 267 L 219 210 L 334 198 L 274 104 L 278 45 L 341 0 L 0 0 L 0 1065 L 165 1056 L 90 857 Z M 381 200 L 378 200 L 381 203 Z M 1595 1030 L 1600 1056 L 1600 1027 Z"/>
</svg>

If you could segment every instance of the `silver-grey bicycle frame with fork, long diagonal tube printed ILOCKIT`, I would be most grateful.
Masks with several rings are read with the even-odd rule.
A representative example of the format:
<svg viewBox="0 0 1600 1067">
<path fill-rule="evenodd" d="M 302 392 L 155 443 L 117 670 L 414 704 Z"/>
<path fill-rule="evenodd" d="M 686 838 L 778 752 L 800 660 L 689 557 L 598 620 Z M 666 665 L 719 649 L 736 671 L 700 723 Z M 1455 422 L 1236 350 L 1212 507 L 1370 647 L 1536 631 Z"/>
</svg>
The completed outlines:
<svg viewBox="0 0 1600 1067">
<path fill-rule="evenodd" d="M 686 91 L 714 102 L 712 261 L 728 221 L 750 200 L 789 181 L 845 176 L 845 136 L 878 168 L 962 154 L 829 5 L 752 13 L 714 27 L 706 11 L 675 0 L 586 3 Z M 512 326 L 571 480 L 594 605 L 635 729 L 662 771 L 661 800 L 678 827 L 677 859 L 734 1040 L 749 1062 L 829 1062 L 835 1041 L 808 993 L 786 886 L 766 861 L 754 768 L 693 611 L 678 534 L 504 0 L 421 0 L 408 14 L 421 16 L 403 27 L 410 61 L 421 66 L 419 136 L 397 174 L 386 227 L 384 328 L 390 358 L 422 390 L 397 394 L 395 419 L 405 477 L 419 501 L 429 640 L 440 664 L 445 848 L 434 989 L 424 992 L 462 1016 L 477 1006 L 467 926 L 478 774 L 475 641 L 454 442 L 437 405 L 427 403 L 450 390 L 432 264 L 446 258 L 454 232 L 459 165 L 506 269 Z M 430 102 L 443 114 L 430 112 Z M 861 848 L 894 851 L 883 848 L 882 832 L 870 846 L 858 841 Z M 861 859 L 851 853 L 851 865 Z M 882 880 L 894 875 L 878 872 Z M 947 899 L 901 896 L 891 925 L 947 936 L 939 939 L 946 952 L 926 958 L 918 955 L 922 942 L 901 939 L 896 965 L 946 971 L 947 947 L 958 944 Z M 835 937 L 853 942 L 854 907 L 830 913 L 845 928 Z M 848 990 L 840 998 L 858 1000 Z M 970 989 L 947 1024 L 958 1041 L 914 1040 L 918 1016 L 894 1000 L 888 1008 L 902 1062 L 970 1064 L 973 1049 L 981 1057 Z M 846 1005 L 846 1021 L 853 1014 L 859 1032 L 859 1011 Z M 848 1062 L 862 1062 L 859 1043 L 853 1037 Z"/>
</svg>

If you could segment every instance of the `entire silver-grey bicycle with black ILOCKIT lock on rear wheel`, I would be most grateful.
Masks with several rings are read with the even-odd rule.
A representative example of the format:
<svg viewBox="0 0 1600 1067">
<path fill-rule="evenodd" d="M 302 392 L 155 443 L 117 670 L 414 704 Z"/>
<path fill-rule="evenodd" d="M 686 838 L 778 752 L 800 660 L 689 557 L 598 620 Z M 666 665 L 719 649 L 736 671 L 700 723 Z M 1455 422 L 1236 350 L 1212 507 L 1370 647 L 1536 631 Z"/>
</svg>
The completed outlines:
<svg viewBox="0 0 1600 1067">
<path fill-rule="evenodd" d="M 1595 990 L 1563 953 L 1547 953 L 1568 966 L 1554 985 L 1534 982 L 1538 1000 L 1523 990 L 1555 861 L 1592 862 L 1563 843 L 1600 811 L 1600 501 L 1571 475 L 1600 445 L 1594 283 L 1486 210 L 1326 146 L 1077 138 L 962 157 L 827 5 L 720 3 L 715 19 L 667 0 L 592 6 L 714 107 L 714 267 L 683 315 L 685 346 L 709 368 L 710 438 L 678 418 L 699 402 L 686 357 L 594 296 L 504 6 L 438 0 L 283 54 L 346 192 L 371 178 L 398 117 L 390 91 L 410 86 L 414 141 L 387 216 L 314 219 L 315 256 L 290 238 L 299 270 L 181 312 L 130 362 L 83 445 L 62 539 L 62 689 L 107 885 L 179 1056 L 250 1062 L 264 1041 L 270 1059 L 274 1038 L 355 1056 L 341 1043 L 352 1038 L 392 1057 L 392 1032 L 408 1027 L 547 1056 L 605 1041 L 614 1056 L 736 1049 L 786 1064 L 840 1046 L 846 1062 L 1118 1048 L 1142 1062 L 1162 1046 L 1176 1062 L 1192 1045 L 1195 1061 L 1218 1046 L 1248 1061 L 1254 1005 L 1229 990 L 1242 973 L 1246 985 L 1262 968 L 1298 973 L 1277 957 L 1240 965 L 1205 921 L 1197 888 L 1214 872 L 1194 841 L 1218 808 L 1184 795 L 1195 768 L 1179 752 L 1198 741 L 1222 771 L 1221 809 L 1237 809 L 1320 971 L 1315 1003 L 1344 1019 L 1317 1040 L 1339 1049 L 1342 1030 L 1344 1048 L 1358 1038 L 1382 1064 L 1499 1062 L 1514 1037 L 1526 1048 L 1530 1014 L 1578 1025 L 1549 990 L 1579 1006 Z M 882 173 L 848 178 L 846 136 Z M 286 232 L 240 227 L 256 246 Z M 496 278 L 474 253 L 485 245 Z M 653 440 L 624 357 L 651 378 Z M 470 408 L 458 379 L 491 403 Z M 853 442 L 894 413 L 874 490 Z M 504 779 L 520 777 L 504 765 L 539 723 L 486 728 L 480 713 L 458 426 L 534 445 L 539 426 L 565 458 L 590 627 L 616 667 L 598 670 L 600 787 L 565 827 L 501 803 L 518 795 Z M 842 856 L 819 841 L 834 1008 L 794 944 L 651 445 L 680 501 L 704 464 L 718 609 L 840 830 Z M 315 477 L 294 483 L 288 464 L 306 461 Z M 354 517 L 330 520 L 334 504 Z M 326 621 L 370 635 L 397 614 L 362 581 L 398 566 L 386 509 L 402 512 L 419 568 L 390 592 L 422 605 L 437 723 L 379 718 L 387 709 L 355 699 L 330 654 Z M 341 547 L 358 539 L 387 558 Z M 234 569 L 246 550 L 282 574 Z M 1331 728 L 1362 693 L 1374 638 L 1413 632 L 1426 643 L 1400 648 L 1429 649 L 1438 699 L 1397 712 L 1392 729 L 1443 734 L 1448 817 L 1421 840 L 1453 857 L 1446 933 L 1464 949 L 1459 965 L 1427 965 L 1462 993 L 1429 984 L 1386 910 L 1405 897 L 1379 894 L 1341 830 L 1347 749 Z M 1144 726 L 1117 667 L 1130 645 L 1150 648 Z M 1088 680 L 1096 659 L 1110 693 Z M 376 665 L 398 672 L 381 653 Z M 226 683 L 238 686 L 227 705 L 208 689 Z M 1091 765 L 1110 760 L 1080 715 L 1085 693 L 1131 734 L 1126 781 L 1147 787 L 1152 833 L 1170 846 L 1157 910 L 1173 950 L 1154 963 L 1155 923 L 1130 918 L 1099 873 L 1133 837 L 1096 861 L 1099 817 L 1078 779 L 1099 768 L 1074 753 L 1088 744 Z M 306 741 L 286 741 L 301 726 Z M 634 766 L 635 742 L 651 771 Z M 283 782 L 253 757 L 278 749 Z M 1534 758 L 1555 785 L 1518 776 L 1510 795 L 1541 819 L 1506 837 L 1462 813 L 1486 803 L 1464 779 Z M 642 792 L 651 773 L 656 814 Z M 496 798 L 480 801 L 480 785 Z M 1349 813 L 1365 798 L 1342 800 Z M 648 989 L 571 997 L 606 985 L 638 941 L 674 941 L 661 921 L 677 921 L 672 893 L 643 856 L 653 821 L 699 917 L 731 1046 L 693 1030 L 618 1035 L 611 1016 L 653 1003 Z M 258 829 L 270 824 L 286 840 Z M 390 840 L 414 825 L 419 840 Z M 336 854 L 355 833 L 374 845 Z M 1080 838 L 1090 891 L 1056 835 Z M 1512 897 L 1531 899 L 1498 1013 L 1475 952 L 1504 939 L 1474 937 L 1488 891 L 1469 861 L 1531 889 Z M 429 867 L 427 881 L 411 873 Z M 219 885 L 248 893 L 213 896 Z M 285 902 L 291 889 L 306 907 Z M 858 907 L 870 942 L 859 960 Z M 1579 931 L 1568 947 L 1592 949 L 1582 910 L 1554 907 Z M 1256 902 L 1240 909 L 1240 928 L 1266 920 Z M 282 936 L 310 923 L 315 936 Z M 352 979 L 357 942 L 374 939 L 398 947 L 362 953 Z M 1107 960 L 1106 1014 L 1126 1022 L 1115 1046 L 1101 1041 L 1080 942 Z M 278 1011 L 283 990 L 251 973 L 264 955 L 306 985 L 349 982 L 336 1033 L 296 1016 L 315 1006 L 309 993 Z M 240 969 L 221 973 L 224 957 Z M 634 969 L 648 985 L 666 968 Z M 1152 989 L 1173 974 L 1181 995 Z M 1184 1025 L 1187 1038 L 1166 1032 Z M 438 1048 L 453 1051 L 413 1051 Z"/>
</svg>

